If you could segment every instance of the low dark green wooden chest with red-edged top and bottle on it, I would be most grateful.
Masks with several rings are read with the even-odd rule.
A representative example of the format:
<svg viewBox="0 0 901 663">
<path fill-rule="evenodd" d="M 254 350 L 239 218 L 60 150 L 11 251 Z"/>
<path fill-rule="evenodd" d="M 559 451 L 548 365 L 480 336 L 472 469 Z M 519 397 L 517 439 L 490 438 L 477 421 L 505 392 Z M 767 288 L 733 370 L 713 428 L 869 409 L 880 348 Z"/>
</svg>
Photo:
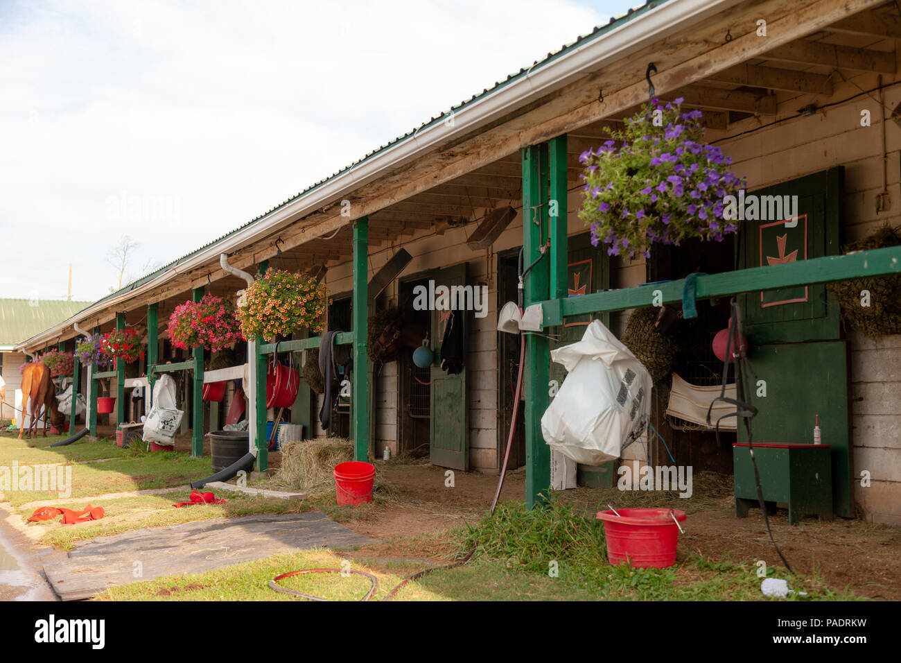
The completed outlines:
<svg viewBox="0 0 901 663">
<path fill-rule="evenodd" d="M 746 518 L 751 507 L 760 505 L 754 466 L 747 442 L 733 444 L 735 470 L 735 516 Z M 754 444 L 760 486 L 767 510 L 776 502 L 787 503 L 788 523 L 815 515 L 833 520 L 833 470 L 829 445 Z"/>
</svg>

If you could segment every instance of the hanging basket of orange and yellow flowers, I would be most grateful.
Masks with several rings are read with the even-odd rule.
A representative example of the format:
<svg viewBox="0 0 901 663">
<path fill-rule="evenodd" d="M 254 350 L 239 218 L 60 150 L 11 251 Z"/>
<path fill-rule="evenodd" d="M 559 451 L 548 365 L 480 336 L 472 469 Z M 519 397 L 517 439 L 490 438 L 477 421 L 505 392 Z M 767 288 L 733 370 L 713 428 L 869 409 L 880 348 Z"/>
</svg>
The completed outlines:
<svg viewBox="0 0 901 663">
<path fill-rule="evenodd" d="M 314 277 L 270 267 L 238 301 L 238 321 L 245 338 L 274 339 L 301 329 L 322 329 L 325 289 Z"/>
</svg>

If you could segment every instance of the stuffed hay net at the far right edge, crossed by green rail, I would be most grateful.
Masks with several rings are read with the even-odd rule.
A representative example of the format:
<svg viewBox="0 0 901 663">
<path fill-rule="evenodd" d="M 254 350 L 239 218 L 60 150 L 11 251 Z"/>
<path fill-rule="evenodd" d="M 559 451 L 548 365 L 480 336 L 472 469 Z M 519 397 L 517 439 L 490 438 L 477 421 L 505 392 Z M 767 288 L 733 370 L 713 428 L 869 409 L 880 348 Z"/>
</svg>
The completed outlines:
<svg viewBox="0 0 901 663">
<path fill-rule="evenodd" d="M 844 246 L 843 253 L 897 246 L 901 244 L 899 229 L 901 226 L 881 226 L 860 242 Z M 837 281 L 826 287 L 838 299 L 848 327 L 870 337 L 901 334 L 901 274 Z M 860 306 L 863 290 L 869 290 L 869 307 Z"/>
</svg>

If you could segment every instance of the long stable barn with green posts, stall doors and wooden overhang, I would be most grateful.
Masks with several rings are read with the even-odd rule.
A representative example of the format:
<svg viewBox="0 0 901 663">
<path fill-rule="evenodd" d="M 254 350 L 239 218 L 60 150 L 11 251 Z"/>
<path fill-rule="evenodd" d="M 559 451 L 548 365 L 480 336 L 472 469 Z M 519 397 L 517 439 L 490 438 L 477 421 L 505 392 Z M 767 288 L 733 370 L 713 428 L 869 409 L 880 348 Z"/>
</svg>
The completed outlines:
<svg viewBox="0 0 901 663">
<path fill-rule="evenodd" d="M 525 280 L 525 301 L 542 304 L 543 331 L 557 338 L 528 336 L 524 417 L 510 463 L 526 465 L 530 504 L 550 481 L 539 420 L 551 380 L 564 377 L 551 365 L 551 348 L 577 340 L 593 318 L 625 336 L 630 312 L 650 307 L 660 290 L 660 303 L 674 309 L 684 294 L 696 300 L 698 316 L 674 323 L 685 326 L 687 341 L 655 384 L 651 423 L 659 435 L 628 447 L 626 460 L 733 471 L 741 432 L 725 432 L 717 443 L 712 431 L 667 410 L 675 375 L 697 388 L 719 385 L 722 364 L 711 344 L 734 296 L 751 364 L 766 382 L 766 396 L 754 401 L 755 443 L 812 442 L 819 416 L 831 511 L 853 517 L 857 503 L 868 520 L 901 524 L 901 336 L 854 329 L 853 313 L 842 318 L 826 286 L 901 269 L 897 247 L 838 257 L 844 245 L 901 224 L 899 39 L 901 14 L 891 2 L 650 2 L 19 348 L 71 345 L 76 323 L 101 331 L 146 325 L 146 361 L 130 367 L 133 374 L 124 367 L 93 371 L 89 380 L 82 374 L 82 391 L 116 391 L 122 422 L 138 414 L 129 410 L 126 384 L 179 375 L 185 426 L 199 454 L 203 434 L 223 416 L 205 406 L 203 384 L 226 373 L 205 375 L 202 349 L 171 350 L 168 314 L 206 290 L 235 299 L 246 285 L 235 269 L 249 277 L 267 266 L 320 269 L 331 293 L 326 328 L 345 332 L 337 343 L 351 346 L 356 368 L 330 430 L 318 423 L 322 396 L 305 385 L 290 421 L 309 435 L 351 437 L 359 459 L 386 448 L 427 451 L 436 465 L 493 474 L 503 461 L 519 368 L 517 337 L 497 331 L 498 311 L 516 300 L 520 249 L 526 264 L 544 250 Z M 773 197 L 768 206 L 775 197 L 789 197 L 787 207 L 796 202 L 791 223 L 752 218 L 758 215 L 742 206 L 740 231 L 723 243 L 655 245 L 650 258 L 633 260 L 592 246 L 578 218 L 579 155 L 651 94 L 700 109 L 705 140 L 733 159 L 748 194 Z M 687 288 L 693 272 L 703 275 Z M 447 316 L 409 306 L 414 289 L 430 281 L 487 291 L 487 315 L 462 317 L 459 373 L 439 364 Z M 369 325 L 394 308 L 405 311 L 404 328 L 427 337 L 431 366 L 416 366 L 409 346 L 384 361 L 368 356 Z M 247 376 L 251 440 L 265 470 L 266 421 L 276 413 L 266 412 L 257 376 L 269 355 L 302 364 L 319 338 L 254 340 L 239 346 L 239 365 L 228 375 Z M 861 483 L 861 473 L 869 482 Z M 612 485 L 614 468 L 580 467 L 579 481 Z"/>
</svg>

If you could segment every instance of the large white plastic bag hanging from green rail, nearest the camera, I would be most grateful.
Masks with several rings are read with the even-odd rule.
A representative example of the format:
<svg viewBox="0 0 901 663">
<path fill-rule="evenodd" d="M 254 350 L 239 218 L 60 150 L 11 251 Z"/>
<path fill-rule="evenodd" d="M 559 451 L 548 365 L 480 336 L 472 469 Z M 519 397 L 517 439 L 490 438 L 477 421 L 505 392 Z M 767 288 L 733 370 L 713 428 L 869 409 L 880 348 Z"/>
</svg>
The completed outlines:
<svg viewBox="0 0 901 663">
<path fill-rule="evenodd" d="M 599 320 L 551 359 L 568 374 L 542 417 L 544 441 L 583 465 L 619 458 L 648 426 L 651 373 Z"/>
</svg>

